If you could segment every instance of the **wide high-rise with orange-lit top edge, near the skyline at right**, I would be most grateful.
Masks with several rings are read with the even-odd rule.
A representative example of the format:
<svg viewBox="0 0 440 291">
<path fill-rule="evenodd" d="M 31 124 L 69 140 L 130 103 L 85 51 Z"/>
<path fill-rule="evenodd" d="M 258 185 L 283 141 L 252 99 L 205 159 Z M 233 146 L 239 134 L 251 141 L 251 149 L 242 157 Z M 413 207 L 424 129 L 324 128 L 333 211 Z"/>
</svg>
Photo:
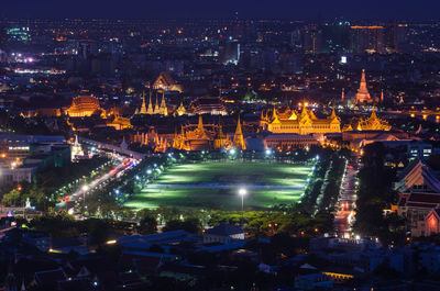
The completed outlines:
<svg viewBox="0 0 440 291">
<path fill-rule="evenodd" d="M 351 26 L 351 46 L 354 54 L 385 53 L 385 27 L 382 25 Z"/>
</svg>

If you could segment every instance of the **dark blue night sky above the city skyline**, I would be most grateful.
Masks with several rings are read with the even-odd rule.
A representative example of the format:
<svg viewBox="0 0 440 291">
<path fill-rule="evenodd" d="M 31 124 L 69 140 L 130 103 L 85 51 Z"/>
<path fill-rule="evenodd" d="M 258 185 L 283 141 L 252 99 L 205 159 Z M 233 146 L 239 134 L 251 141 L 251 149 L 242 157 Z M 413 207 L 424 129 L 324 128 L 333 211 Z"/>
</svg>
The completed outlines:
<svg viewBox="0 0 440 291">
<path fill-rule="evenodd" d="M 1 0 L 0 18 L 439 19 L 440 0 Z"/>
</svg>

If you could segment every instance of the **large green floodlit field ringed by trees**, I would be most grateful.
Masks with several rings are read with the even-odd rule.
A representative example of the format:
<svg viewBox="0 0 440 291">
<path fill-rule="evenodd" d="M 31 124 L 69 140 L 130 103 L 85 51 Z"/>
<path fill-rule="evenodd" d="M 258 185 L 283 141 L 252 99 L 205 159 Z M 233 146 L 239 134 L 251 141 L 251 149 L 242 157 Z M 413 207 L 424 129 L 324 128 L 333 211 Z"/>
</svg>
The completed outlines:
<svg viewBox="0 0 440 291">
<path fill-rule="evenodd" d="M 274 161 L 205 161 L 178 165 L 164 172 L 125 205 L 133 209 L 197 208 L 241 210 L 238 194 L 244 187 L 246 210 L 292 204 L 300 199 L 311 166 Z"/>
</svg>

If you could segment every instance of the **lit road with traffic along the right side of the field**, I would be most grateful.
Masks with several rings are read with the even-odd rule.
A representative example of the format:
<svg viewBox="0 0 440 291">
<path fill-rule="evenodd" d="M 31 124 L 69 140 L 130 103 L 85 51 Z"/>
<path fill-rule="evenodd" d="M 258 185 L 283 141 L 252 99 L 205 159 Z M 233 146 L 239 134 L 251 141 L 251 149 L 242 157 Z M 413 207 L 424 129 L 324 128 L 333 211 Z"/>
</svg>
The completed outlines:
<svg viewBox="0 0 440 291">
<path fill-rule="evenodd" d="M 337 203 L 338 211 L 334 215 L 334 231 L 339 237 L 350 237 L 352 233 L 351 225 L 354 222 L 356 206 L 358 171 L 358 158 L 350 158 L 342 182 L 342 193 Z"/>
</svg>

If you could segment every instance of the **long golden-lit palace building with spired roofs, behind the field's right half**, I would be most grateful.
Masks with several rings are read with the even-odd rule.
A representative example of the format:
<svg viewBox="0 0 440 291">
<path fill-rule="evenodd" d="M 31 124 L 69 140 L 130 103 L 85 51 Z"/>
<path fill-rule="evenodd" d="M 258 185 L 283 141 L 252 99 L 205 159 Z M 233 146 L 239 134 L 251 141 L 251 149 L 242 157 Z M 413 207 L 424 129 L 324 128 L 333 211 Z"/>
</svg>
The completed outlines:
<svg viewBox="0 0 440 291">
<path fill-rule="evenodd" d="M 287 110 L 277 112 L 274 108 L 271 116 L 268 113 L 262 112 L 260 125 L 263 130 L 273 133 L 296 133 L 306 134 L 324 134 L 341 132 L 341 122 L 334 113 L 334 109 L 327 119 L 318 119 L 314 111 L 302 108 L 301 112 Z"/>
</svg>

